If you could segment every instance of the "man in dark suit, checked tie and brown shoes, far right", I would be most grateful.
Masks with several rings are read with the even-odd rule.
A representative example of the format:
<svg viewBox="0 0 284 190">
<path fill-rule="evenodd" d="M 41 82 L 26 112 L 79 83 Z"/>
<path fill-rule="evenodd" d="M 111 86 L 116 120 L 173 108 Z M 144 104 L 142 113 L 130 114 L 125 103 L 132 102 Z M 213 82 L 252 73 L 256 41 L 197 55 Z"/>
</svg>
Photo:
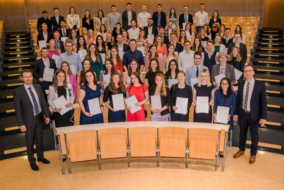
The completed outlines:
<svg viewBox="0 0 284 190">
<path fill-rule="evenodd" d="M 264 126 L 267 119 L 267 99 L 265 84 L 254 79 L 254 67 L 246 65 L 244 67 L 245 81 L 239 83 L 236 98 L 236 109 L 234 111 L 234 121 L 239 119 L 240 140 L 239 151 L 234 155 L 238 158 L 244 155 L 246 146 L 246 135 L 248 128 L 251 134 L 251 157 L 249 163 L 255 162 L 258 145 L 258 126 Z"/>
</svg>

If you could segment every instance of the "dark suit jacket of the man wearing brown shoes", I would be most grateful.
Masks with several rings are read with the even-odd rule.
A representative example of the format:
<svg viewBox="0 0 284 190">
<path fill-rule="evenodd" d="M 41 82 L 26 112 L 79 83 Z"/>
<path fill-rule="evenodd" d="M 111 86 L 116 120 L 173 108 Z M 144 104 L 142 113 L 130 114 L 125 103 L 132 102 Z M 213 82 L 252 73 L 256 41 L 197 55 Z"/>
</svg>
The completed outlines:
<svg viewBox="0 0 284 190">
<path fill-rule="evenodd" d="M 242 111 L 242 97 L 244 94 L 244 83 L 245 81 L 239 82 L 238 93 L 236 97 L 236 109 L 234 115 L 240 117 Z M 255 79 L 255 85 L 253 86 L 253 93 L 250 101 L 251 107 L 251 119 L 257 121 L 260 119 L 267 119 L 267 99 L 266 99 L 266 88 L 262 81 Z"/>
</svg>

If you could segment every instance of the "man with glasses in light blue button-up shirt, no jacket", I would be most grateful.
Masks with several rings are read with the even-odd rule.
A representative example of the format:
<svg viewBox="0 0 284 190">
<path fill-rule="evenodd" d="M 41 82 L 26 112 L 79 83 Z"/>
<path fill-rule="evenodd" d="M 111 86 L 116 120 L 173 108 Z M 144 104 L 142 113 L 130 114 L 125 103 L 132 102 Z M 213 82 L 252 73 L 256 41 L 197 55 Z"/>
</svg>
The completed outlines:
<svg viewBox="0 0 284 190">
<path fill-rule="evenodd" d="M 66 49 L 66 52 L 62 53 L 59 56 L 57 68 L 60 68 L 61 63 L 63 61 L 67 61 L 70 65 L 71 70 L 72 70 L 72 67 L 74 66 L 75 75 L 77 75 L 83 69 L 81 58 L 78 53 L 72 51 L 73 49 L 72 42 L 66 42 L 65 49 Z"/>
</svg>

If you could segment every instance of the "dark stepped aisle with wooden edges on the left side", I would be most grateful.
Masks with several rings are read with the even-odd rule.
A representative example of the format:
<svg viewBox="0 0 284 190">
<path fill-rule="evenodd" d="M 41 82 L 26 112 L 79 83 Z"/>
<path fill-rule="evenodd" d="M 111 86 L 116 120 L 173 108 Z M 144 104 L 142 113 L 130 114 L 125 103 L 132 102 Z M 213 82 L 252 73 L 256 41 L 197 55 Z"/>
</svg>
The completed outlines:
<svg viewBox="0 0 284 190">
<path fill-rule="evenodd" d="M 0 72 L 0 160 L 26 154 L 25 134 L 18 128 L 13 91 L 22 85 L 21 72 L 33 71 L 35 53 L 28 32 L 7 32 Z M 34 78 L 34 83 L 38 81 Z M 44 126 L 44 149 L 54 149 L 53 131 Z"/>
</svg>

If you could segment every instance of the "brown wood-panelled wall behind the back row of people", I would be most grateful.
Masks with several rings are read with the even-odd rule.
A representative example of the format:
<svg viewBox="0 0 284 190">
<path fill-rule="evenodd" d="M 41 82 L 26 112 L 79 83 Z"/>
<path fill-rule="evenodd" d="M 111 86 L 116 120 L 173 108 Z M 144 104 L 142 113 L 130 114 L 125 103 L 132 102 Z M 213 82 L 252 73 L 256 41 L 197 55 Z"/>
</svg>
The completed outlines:
<svg viewBox="0 0 284 190">
<path fill-rule="evenodd" d="M 38 19 L 42 16 L 42 10 L 48 11 L 48 17 L 53 16 L 53 8 L 58 7 L 60 10 L 60 15 L 66 17 L 69 13 L 69 7 L 73 6 L 76 9 L 76 13 L 83 17 L 84 11 L 86 9 L 90 10 L 91 16 L 96 16 L 98 10 L 102 9 L 105 16 L 111 12 L 111 5 L 115 4 L 117 6 L 117 12 L 122 13 L 126 10 L 126 3 L 132 3 L 132 10 L 136 11 L 138 14 L 141 12 L 141 7 L 143 4 L 147 5 L 147 12 L 153 13 L 156 11 L 157 4 L 162 4 L 162 11 L 167 15 L 171 7 L 175 7 L 177 14 L 181 14 L 184 5 L 188 5 L 189 12 L 194 15 L 199 10 L 199 4 L 205 4 L 205 11 L 208 12 L 209 16 L 212 15 L 214 10 L 218 10 L 221 16 L 260 16 L 263 18 L 263 7 L 265 1 L 275 1 L 275 0 L 195 0 L 195 1 L 176 1 L 168 0 L 165 1 L 158 0 L 119 0 L 119 1 L 90 1 L 90 0 L 0 0 L 0 19 L 3 19 L 6 24 L 6 31 L 25 31 L 28 29 L 27 20 L 28 19 Z M 279 2 L 282 0 L 278 0 Z M 281 3 L 280 3 L 281 4 Z M 283 6 L 282 6 L 283 7 Z M 279 10 L 279 9 L 278 9 Z M 267 15 L 276 14 L 272 9 L 268 9 L 271 13 Z M 276 17 L 269 16 L 266 23 L 271 23 L 270 19 Z M 262 26 L 261 19 L 261 26 Z"/>
</svg>

